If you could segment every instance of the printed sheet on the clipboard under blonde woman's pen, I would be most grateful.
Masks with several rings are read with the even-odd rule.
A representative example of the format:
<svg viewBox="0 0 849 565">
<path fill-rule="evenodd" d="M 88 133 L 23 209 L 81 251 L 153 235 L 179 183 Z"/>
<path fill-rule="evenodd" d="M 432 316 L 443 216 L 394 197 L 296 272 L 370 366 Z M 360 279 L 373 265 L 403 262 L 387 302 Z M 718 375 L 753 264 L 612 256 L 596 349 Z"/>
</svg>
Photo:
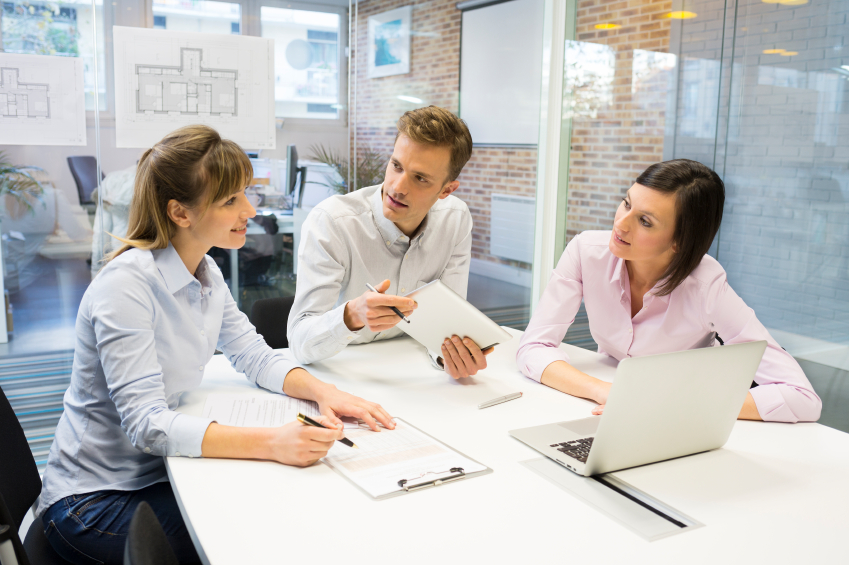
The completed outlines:
<svg viewBox="0 0 849 565">
<path fill-rule="evenodd" d="M 414 486 L 453 475 L 454 467 L 467 475 L 487 470 L 398 418 L 394 430 L 373 432 L 361 424 L 345 437 L 359 449 L 337 442 L 322 461 L 375 498 L 402 490 L 401 479 Z"/>
</svg>

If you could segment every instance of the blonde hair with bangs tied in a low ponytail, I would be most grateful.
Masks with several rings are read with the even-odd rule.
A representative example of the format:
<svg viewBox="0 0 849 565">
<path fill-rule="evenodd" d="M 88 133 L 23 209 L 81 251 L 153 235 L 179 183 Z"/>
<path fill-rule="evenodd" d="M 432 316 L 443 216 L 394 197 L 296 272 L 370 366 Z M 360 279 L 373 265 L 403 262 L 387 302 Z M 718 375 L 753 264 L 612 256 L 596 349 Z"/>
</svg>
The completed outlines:
<svg viewBox="0 0 849 565">
<path fill-rule="evenodd" d="M 105 261 L 133 247 L 168 247 L 177 232 L 168 217 L 169 201 L 187 208 L 201 206 L 205 212 L 213 202 L 245 188 L 252 178 L 253 167 L 242 148 L 222 139 L 211 127 L 193 125 L 172 131 L 142 155 L 127 236 L 112 236 L 124 245 Z"/>
</svg>

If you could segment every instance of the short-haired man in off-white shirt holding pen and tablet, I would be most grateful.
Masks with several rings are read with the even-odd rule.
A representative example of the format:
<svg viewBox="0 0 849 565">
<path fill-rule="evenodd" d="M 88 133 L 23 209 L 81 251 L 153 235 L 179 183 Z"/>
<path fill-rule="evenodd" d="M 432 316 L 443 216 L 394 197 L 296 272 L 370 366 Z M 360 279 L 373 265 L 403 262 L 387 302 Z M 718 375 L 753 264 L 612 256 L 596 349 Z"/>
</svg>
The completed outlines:
<svg viewBox="0 0 849 565">
<path fill-rule="evenodd" d="M 471 154 L 469 129 L 451 112 L 406 112 L 383 184 L 328 198 L 310 212 L 288 325 L 289 347 L 301 363 L 401 335 L 391 307 L 407 315 L 416 304 L 395 295 L 440 279 L 466 296 L 472 216 L 451 193 Z M 431 358 L 459 379 L 486 368 L 488 353 L 452 336 Z"/>
</svg>

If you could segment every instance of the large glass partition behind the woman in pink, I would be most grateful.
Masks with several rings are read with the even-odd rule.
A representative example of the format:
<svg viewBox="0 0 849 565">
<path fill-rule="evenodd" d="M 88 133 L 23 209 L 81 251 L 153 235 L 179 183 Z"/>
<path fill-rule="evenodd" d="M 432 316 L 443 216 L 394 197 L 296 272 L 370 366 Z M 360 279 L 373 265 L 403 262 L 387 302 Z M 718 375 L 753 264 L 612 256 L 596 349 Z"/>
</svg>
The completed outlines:
<svg viewBox="0 0 849 565">
<path fill-rule="evenodd" d="M 654 162 L 714 168 L 726 208 L 711 254 L 802 364 L 821 421 L 844 430 L 847 11 L 846 0 L 578 0 L 564 69 L 569 238 L 610 229 Z"/>
</svg>

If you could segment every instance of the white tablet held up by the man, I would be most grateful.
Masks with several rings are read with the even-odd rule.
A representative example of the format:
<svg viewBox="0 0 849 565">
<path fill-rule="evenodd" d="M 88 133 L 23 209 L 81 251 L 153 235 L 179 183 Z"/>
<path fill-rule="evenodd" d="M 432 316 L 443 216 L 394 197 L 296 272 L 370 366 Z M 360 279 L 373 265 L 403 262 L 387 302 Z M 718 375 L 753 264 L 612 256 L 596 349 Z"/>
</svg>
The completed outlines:
<svg viewBox="0 0 849 565">
<path fill-rule="evenodd" d="M 439 353 L 442 342 L 452 335 L 468 337 L 481 349 L 513 337 L 440 280 L 404 296 L 412 298 L 419 306 L 407 316 L 409 324 L 400 322 L 396 327 L 434 353 Z"/>
</svg>

